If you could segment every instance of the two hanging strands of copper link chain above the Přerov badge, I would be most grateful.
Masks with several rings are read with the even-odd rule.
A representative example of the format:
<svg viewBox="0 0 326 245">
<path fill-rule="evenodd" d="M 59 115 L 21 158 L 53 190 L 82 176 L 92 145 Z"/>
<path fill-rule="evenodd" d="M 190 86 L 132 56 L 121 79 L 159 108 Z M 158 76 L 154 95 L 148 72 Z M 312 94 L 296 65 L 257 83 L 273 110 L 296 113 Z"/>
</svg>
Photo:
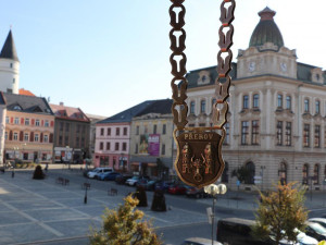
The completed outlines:
<svg viewBox="0 0 326 245">
<path fill-rule="evenodd" d="M 171 0 L 172 5 L 170 8 L 170 16 L 172 29 L 170 32 L 171 39 L 171 50 L 173 51 L 170 57 L 170 63 L 172 65 L 172 75 L 174 78 L 171 82 L 172 87 L 172 98 L 174 99 L 172 106 L 172 113 L 174 118 L 174 123 L 177 130 L 181 131 L 187 125 L 187 113 L 188 106 L 186 103 L 187 99 L 187 85 L 188 82 L 185 77 L 187 57 L 184 53 L 186 49 L 186 32 L 183 28 L 185 25 L 185 14 L 186 9 L 183 5 L 185 0 Z M 226 8 L 226 4 L 229 4 Z M 228 103 L 226 99 L 229 96 L 229 86 L 231 77 L 229 72 L 231 70 L 231 59 L 233 52 L 230 47 L 233 46 L 234 26 L 231 22 L 234 21 L 235 12 L 235 0 L 223 0 L 221 4 L 221 19 L 222 26 L 220 27 L 218 35 L 220 41 L 218 46 L 221 50 L 217 53 L 217 73 L 218 77 L 215 81 L 216 89 L 215 97 L 216 102 L 213 105 L 213 122 L 214 126 L 222 128 L 227 122 Z M 225 58 L 223 58 L 223 56 Z"/>
</svg>

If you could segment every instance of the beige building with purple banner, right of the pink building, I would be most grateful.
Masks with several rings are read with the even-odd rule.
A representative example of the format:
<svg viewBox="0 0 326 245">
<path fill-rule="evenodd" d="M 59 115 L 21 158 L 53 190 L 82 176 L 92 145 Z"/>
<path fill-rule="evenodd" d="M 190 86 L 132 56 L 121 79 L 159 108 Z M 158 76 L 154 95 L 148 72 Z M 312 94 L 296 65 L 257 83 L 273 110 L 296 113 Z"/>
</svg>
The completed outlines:
<svg viewBox="0 0 326 245">
<path fill-rule="evenodd" d="M 172 100 L 155 100 L 131 121 L 130 171 L 167 179 L 173 169 Z"/>
</svg>

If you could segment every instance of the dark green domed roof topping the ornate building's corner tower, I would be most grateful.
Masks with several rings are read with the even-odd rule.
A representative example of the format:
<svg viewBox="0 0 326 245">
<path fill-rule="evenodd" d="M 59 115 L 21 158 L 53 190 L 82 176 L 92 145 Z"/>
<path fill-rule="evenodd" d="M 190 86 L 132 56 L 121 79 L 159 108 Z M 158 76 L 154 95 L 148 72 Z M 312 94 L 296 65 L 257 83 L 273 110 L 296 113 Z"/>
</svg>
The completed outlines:
<svg viewBox="0 0 326 245">
<path fill-rule="evenodd" d="M 249 47 L 259 47 L 266 42 L 273 42 L 278 48 L 284 47 L 283 36 L 273 19 L 275 14 L 268 7 L 259 12 L 261 20 L 251 35 Z"/>
</svg>

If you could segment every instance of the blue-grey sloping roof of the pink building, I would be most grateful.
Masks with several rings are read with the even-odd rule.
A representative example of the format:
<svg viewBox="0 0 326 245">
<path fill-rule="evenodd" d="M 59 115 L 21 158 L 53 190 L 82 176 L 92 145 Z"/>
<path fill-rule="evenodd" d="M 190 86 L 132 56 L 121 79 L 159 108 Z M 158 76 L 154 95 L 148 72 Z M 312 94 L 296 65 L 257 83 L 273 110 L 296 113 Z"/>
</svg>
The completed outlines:
<svg viewBox="0 0 326 245">
<path fill-rule="evenodd" d="M 127 110 L 124 110 L 115 115 L 112 115 L 108 119 L 99 121 L 97 124 L 103 123 L 115 123 L 115 122 L 131 122 L 133 117 L 138 114 L 140 111 L 145 110 L 148 106 L 150 106 L 154 100 L 146 100 L 141 103 L 138 103 L 135 107 L 131 107 Z"/>
</svg>

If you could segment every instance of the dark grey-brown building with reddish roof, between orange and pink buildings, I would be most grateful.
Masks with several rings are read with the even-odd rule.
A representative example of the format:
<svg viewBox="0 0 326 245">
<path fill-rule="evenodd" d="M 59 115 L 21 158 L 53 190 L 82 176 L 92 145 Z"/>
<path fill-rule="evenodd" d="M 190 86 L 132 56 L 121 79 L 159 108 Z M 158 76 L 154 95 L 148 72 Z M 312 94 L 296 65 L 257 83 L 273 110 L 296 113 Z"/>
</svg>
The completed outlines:
<svg viewBox="0 0 326 245">
<path fill-rule="evenodd" d="M 90 120 L 79 109 L 50 105 L 54 115 L 54 162 L 83 163 L 89 157 Z"/>
</svg>

